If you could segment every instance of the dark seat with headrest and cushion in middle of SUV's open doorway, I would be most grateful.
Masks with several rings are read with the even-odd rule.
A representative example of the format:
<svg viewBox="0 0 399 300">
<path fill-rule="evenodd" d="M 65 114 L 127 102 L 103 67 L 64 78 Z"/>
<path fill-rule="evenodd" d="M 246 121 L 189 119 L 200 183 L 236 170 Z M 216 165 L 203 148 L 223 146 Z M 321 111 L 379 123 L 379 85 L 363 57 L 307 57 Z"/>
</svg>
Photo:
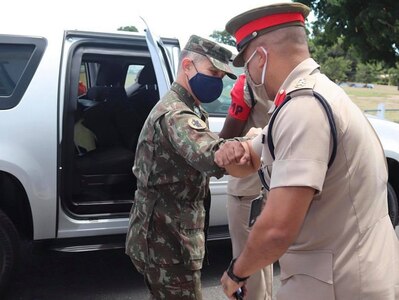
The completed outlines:
<svg viewBox="0 0 399 300">
<path fill-rule="evenodd" d="M 96 85 L 89 88 L 86 95 L 97 104 L 84 109 L 81 114 L 82 124 L 96 137 L 96 149 L 75 158 L 76 173 L 80 178 L 80 193 L 90 190 L 95 200 L 107 200 L 112 196 L 103 193 L 112 186 L 129 185 L 132 195 L 135 189 L 134 151 L 124 142 L 118 124 L 118 114 L 127 103 L 122 85 L 125 75 L 122 66 L 102 64 Z"/>
</svg>

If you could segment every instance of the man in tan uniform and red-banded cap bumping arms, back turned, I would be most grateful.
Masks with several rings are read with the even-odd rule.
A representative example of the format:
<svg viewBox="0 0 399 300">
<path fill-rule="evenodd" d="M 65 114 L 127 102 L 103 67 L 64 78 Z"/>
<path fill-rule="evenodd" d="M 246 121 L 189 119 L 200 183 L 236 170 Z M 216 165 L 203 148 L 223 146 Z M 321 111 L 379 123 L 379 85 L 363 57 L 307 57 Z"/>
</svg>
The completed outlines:
<svg viewBox="0 0 399 300">
<path fill-rule="evenodd" d="M 260 268 L 280 261 L 278 300 L 399 299 L 399 243 L 387 209 L 387 167 L 363 112 L 310 58 L 300 3 L 230 20 L 255 89 L 276 109 L 263 133 L 243 142 L 249 164 L 221 147 L 234 176 L 262 171 L 270 192 L 247 244 L 222 277 L 231 299 Z M 261 157 L 261 159 L 260 159 Z"/>
</svg>

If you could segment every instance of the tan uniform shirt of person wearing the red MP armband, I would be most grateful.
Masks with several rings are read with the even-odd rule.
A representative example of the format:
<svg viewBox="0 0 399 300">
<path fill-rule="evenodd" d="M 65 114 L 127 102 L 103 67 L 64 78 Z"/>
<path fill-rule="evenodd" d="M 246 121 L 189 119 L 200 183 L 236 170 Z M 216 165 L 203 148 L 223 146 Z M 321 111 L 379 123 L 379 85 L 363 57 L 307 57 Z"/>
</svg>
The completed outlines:
<svg viewBox="0 0 399 300">
<path fill-rule="evenodd" d="M 245 93 L 247 93 L 247 91 Z M 252 127 L 265 127 L 270 119 L 269 110 L 273 106 L 273 102 L 270 100 L 258 100 L 255 106 L 253 106 L 248 95 L 244 95 L 244 99 L 248 107 L 251 107 L 251 112 L 243 129 L 242 135 L 245 135 Z M 233 196 L 258 195 L 261 186 L 262 184 L 260 183 L 257 173 L 251 174 L 244 178 L 229 176 L 227 193 Z"/>
</svg>

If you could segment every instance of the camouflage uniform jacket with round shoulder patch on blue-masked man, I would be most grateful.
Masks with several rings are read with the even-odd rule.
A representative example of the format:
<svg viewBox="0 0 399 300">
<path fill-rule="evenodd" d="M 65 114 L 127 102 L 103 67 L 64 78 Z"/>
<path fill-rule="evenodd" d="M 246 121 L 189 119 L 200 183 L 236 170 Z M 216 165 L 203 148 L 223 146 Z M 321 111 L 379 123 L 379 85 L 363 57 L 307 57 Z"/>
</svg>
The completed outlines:
<svg viewBox="0 0 399 300">
<path fill-rule="evenodd" d="M 204 110 L 197 114 L 202 120 L 194 113 L 191 95 L 173 83 L 144 124 L 133 167 L 137 190 L 126 240 L 133 262 L 202 267 L 203 199 L 209 176 L 224 174 L 213 161 L 224 140 L 210 132 Z"/>
</svg>

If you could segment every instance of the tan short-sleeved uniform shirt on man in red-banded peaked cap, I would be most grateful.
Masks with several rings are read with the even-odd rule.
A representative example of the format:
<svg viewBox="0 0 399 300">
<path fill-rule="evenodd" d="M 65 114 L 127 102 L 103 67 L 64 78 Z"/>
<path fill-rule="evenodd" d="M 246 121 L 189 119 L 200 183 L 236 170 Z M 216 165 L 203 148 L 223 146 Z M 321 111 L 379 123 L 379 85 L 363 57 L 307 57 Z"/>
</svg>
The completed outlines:
<svg viewBox="0 0 399 300">
<path fill-rule="evenodd" d="M 312 96 L 293 97 L 279 112 L 272 130 L 274 161 L 261 137 L 254 140 L 271 188 L 317 190 L 298 238 L 280 258 L 277 299 L 399 299 L 399 245 L 388 216 L 379 139 L 363 112 L 312 59 L 298 65 L 282 89 L 289 93 L 303 86 L 331 105 L 338 149 L 328 169 L 330 126 Z"/>
</svg>

